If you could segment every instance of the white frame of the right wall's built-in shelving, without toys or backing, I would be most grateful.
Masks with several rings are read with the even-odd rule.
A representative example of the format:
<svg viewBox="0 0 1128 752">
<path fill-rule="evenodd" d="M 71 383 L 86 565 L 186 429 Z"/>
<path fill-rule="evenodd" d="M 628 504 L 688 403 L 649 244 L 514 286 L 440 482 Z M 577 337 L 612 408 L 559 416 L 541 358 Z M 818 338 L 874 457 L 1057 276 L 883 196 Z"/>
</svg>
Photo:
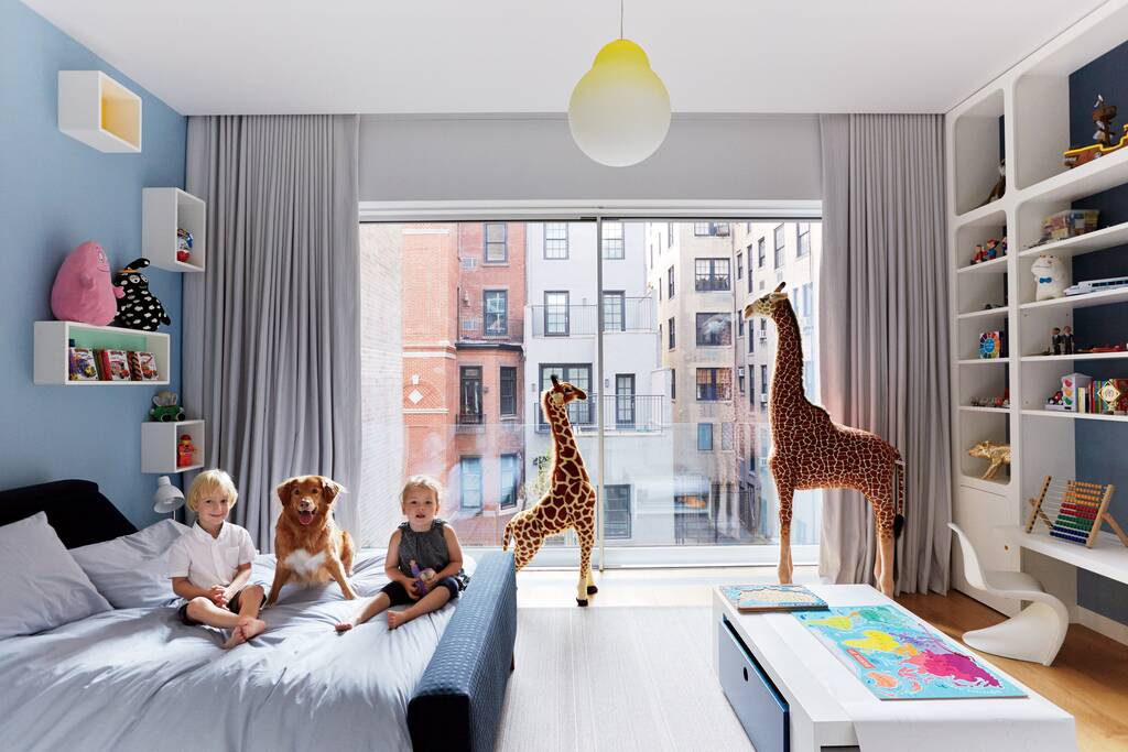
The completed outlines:
<svg viewBox="0 0 1128 752">
<path fill-rule="evenodd" d="M 1114 365 L 1128 359 L 1128 353 L 1041 354 L 1054 327 L 1074 326 L 1075 310 L 1128 301 L 1128 290 L 1036 301 L 1030 272 L 1041 254 L 1054 254 L 1069 264 L 1068 259 L 1082 254 L 1128 245 L 1128 223 L 1034 245 L 1050 214 L 1070 209 L 1075 200 L 1128 184 L 1128 149 L 1074 169 L 1063 163 L 1063 151 L 1083 145 L 1070 140 L 1070 115 L 1078 113 L 1070 112 L 1069 77 L 1126 41 L 1128 0 L 1110 0 L 998 78 L 985 82 L 945 117 L 952 516 L 971 536 L 986 568 L 1016 572 L 1025 567 L 1070 605 L 1076 603 L 1076 576 L 1060 561 L 1101 572 L 1101 565 L 1087 558 L 1084 547 L 1056 543 L 1045 537 L 1034 541 L 1066 552 L 1055 561 L 1031 555 L 1029 550 L 1036 549 L 1026 543 L 1004 546 L 993 540 L 993 531 L 1025 523 L 1025 499 L 1038 494 L 1045 476 L 1076 477 L 1075 432 L 1083 425 L 1078 421 L 1105 421 L 1103 425 L 1111 426 L 1128 423 L 1128 416 L 1043 409 L 1046 399 L 1060 389 L 1064 374 L 1084 371 L 1087 361 L 1107 360 Z M 1087 121 L 1089 113 L 1082 114 Z M 990 189 L 990 172 L 998 157 L 1006 158 L 1006 192 L 998 201 L 980 206 L 978 203 Z M 975 245 L 1004 233 L 1010 246 L 1004 259 L 970 264 Z M 987 303 L 1004 301 L 1006 313 L 1001 312 L 998 319 L 970 316 Z M 1012 356 L 995 361 L 970 359 L 977 325 L 984 329 L 1005 328 Z M 990 363 L 1001 368 L 990 368 Z M 985 368 L 973 368 L 980 365 Z M 1004 393 L 1011 399 L 1010 410 L 970 407 L 972 399 Z M 986 461 L 972 460 L 967 451 L 982 440 L 1011 445 L 1005 483 L 971 477 L 982 472 Z M 992 502 L 985 503 L 987 498 Z M 1049 550 L 1040 552 L 1055 556 Z M 1122 557 L 1128 573 L 1128 550 L 1117 555 Z M 953 586 L 978 600 L 989 600 L 968 585 L 958 560 L 953 565 Z M 1017 612 L 1015 603 L 988 604 L 1012 616 Z"/>
</svg>

